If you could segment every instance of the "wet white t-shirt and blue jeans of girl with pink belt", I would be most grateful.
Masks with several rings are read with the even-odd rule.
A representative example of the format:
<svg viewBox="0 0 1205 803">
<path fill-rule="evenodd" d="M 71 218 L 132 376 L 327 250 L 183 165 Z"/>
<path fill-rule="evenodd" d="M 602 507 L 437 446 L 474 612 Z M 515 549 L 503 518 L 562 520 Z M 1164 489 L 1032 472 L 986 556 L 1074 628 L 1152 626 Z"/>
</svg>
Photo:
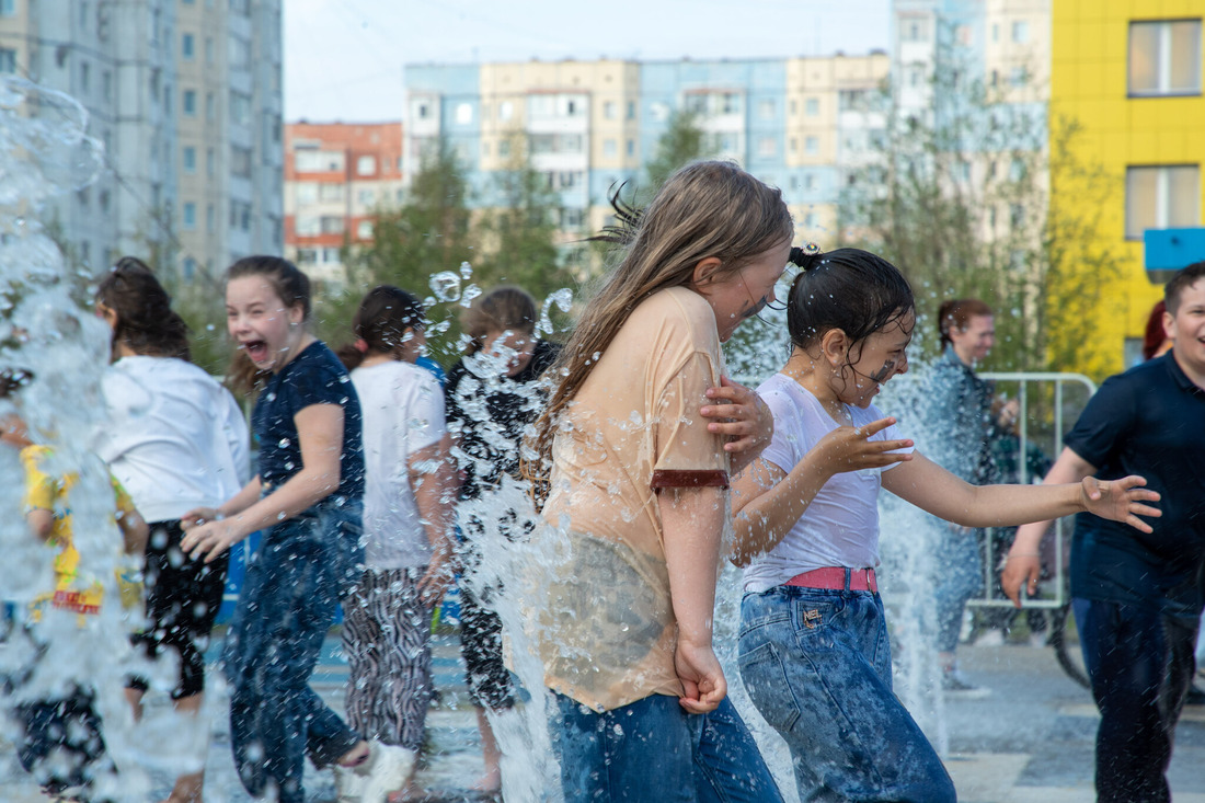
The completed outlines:
<svg viewBox="0 0 1205 803">
<path fill-rule="evenodd" d="M 774 414 L 762 459 L 789 474 L 840 424 L 795 380 L 758 387 Z M 854 427 L 884 418 L 846 405 Z M 871 440 L 899 440 L 894 426 Z M 851 591 L 878 564 L 881 469 L 836 474 L 769 552 L 745 569 L 739 660 L 750 699 L 787 742 L 804 801 L 952 803 L 936 751 L 892 692 L 892 657 L 878 593 Z M 821 568 L 846 569 L 845 590 L 784 585 Z"/>
</svg>

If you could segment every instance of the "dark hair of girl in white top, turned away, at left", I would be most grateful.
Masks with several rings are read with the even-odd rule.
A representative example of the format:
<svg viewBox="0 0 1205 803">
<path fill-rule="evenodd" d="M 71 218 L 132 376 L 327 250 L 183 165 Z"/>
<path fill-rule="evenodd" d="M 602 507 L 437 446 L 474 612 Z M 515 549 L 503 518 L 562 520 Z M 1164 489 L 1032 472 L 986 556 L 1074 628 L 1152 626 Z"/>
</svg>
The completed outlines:
<svg viewBox="0 0 1205 803">
<path fill-rule="evenodd" d="M 171 295 L 137 257 L 122 257 L 96 287 L 95 299 L 117 313 L 112 347 L 125 344 L 148 357 L 190 361 L 188 324 L 171 309 Z"/>
</svg>

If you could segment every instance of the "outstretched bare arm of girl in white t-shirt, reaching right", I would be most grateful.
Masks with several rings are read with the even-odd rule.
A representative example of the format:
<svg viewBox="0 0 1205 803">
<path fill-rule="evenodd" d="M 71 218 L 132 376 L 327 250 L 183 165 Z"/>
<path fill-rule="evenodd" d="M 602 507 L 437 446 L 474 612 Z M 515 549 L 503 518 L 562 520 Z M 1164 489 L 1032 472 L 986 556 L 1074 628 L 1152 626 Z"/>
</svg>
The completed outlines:
<svg viewBox="0 0 1205 803">
<path fill-rule="evenodd" d="M 1144 490 L 1146 480 L 1138 476 L 1111 482 L 1088 477 L 1068 485 L 976 486 L 919 452 L 913 452 L 913 457 L 886 471 L 883 487 L 939 518 L 964 527 L 1010 527 L 1087 510 L 1148 533 L 1150 524 L 1139 516 L 1159 515 L 1157 509 L 1142 504 L 1158 500 L 1159 494 Z"/>
</svg>

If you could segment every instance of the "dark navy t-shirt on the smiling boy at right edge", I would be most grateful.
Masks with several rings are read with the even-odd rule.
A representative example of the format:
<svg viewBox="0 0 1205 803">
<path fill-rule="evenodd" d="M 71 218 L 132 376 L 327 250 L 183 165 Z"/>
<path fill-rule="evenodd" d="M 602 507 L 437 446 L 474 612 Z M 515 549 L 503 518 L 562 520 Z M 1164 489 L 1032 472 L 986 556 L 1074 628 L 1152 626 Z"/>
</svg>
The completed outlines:
<svg viewBox="0 0 1205 803">
<path fill-rule="evenodd" d="M 1199 616 L 1205 581 L 1205 389 L 1172 354 L 1142 363 L 1100 386 L 1063 439 L 1095 465 L 1097 477 L 1146 477 L 1163 498 L 1146 534 L 1080 514 L 1071 544 L 1071 594 L 1156 605 Z"/>
</svg>

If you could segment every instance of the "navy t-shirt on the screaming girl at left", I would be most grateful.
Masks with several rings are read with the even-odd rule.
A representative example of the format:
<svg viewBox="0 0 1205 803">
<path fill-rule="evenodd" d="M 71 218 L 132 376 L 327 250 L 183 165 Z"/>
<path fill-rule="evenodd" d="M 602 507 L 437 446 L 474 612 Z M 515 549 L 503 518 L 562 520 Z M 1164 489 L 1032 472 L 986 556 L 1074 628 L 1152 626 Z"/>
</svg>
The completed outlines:
<svg viewBox="0 0 1205 803">
<path fill-rule="evenodd" d="M 259 439 L 259 479 L 265 491 L 280 487 L 301 470 L 301 444 L 293 418 L 311 404 L 337 404 L 343 409 L 339 491 L 331 496 L 362 499 L 364 447 L 360 440 L 360 400 L 347 369 L 322 341 L 306 346 L 274 374 L 255 402 L 251 423 Z"/>
</svg>

